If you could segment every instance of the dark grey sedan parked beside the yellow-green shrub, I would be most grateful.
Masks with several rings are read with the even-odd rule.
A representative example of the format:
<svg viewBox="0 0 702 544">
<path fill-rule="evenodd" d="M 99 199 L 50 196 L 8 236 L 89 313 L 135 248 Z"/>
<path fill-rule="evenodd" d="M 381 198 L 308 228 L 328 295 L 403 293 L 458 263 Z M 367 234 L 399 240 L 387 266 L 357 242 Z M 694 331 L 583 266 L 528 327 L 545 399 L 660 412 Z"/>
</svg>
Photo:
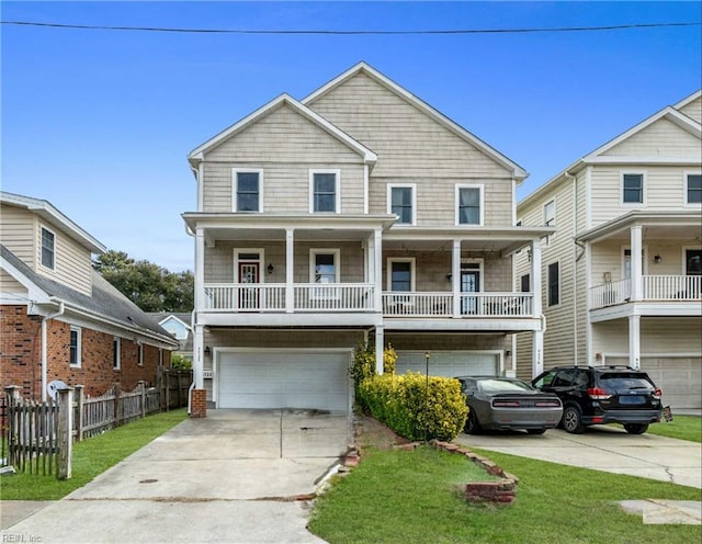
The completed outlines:
<svg viewBox="0 0 702 544">
<path fill-rule="evenodd" d="M 561 399 L 542 393 L 521 379 L 501 376 L 458 376 L 468 405 L 465 431 L 484 429 L 521 430 L 543 434 L 555 428 L 563 416 Z"/>
</svg>

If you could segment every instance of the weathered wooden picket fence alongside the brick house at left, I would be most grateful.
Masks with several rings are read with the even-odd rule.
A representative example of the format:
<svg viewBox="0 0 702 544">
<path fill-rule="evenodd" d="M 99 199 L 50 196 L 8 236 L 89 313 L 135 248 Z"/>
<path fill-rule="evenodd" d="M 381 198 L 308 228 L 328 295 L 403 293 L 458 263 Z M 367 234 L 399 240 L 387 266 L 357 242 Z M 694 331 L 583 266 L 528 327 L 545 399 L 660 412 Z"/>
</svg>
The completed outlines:
<svg viewBox="0 0 702 544">
<path fill-rule="evenodd" d="M 16 386 L 5 388 L 0 403 L 0 466 L 30 474 L 70 477 L 71 443 L 102 434 L 148 415 L 188 406 L 192 371 L 165 371 L 159 386 L 139 382 L 133 392 L 114 386 L 99 397 L 88 397 L 83 386 L 70 389 L 64 405 L 55 400 L 23 399 Z M 63 409 L 69 404 L 70 413 Z M 66 429 L 64 429 L 66 428 Z M 64 442 L 61 437 L 65 434 Z M 70 439 L 68 439 L 70 437 Z M 63 444 L 63 445 L 61 445 Z"/>
</svg>

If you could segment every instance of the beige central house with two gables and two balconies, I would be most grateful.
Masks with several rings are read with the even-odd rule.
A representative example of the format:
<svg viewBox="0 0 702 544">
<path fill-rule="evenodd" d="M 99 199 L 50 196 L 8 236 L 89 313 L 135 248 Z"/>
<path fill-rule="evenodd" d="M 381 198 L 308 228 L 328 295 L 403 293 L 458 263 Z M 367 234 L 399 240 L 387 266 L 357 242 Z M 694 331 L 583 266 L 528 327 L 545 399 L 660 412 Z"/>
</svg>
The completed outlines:
<svg viewBox="0 0 702 544">
<path fill-rule="evenodd" d="M 526 172 L 365 63 L 264 104 L 189 155 L 197 207 L 194 405 L 349 410 L 352 351 L 398 372 L 513 373 L 551 227 L 516 226 Z M 426 356 L 429 352 L 429 358 Z M 197 411 L 197 410 L 196 410 Z"/>
</svg>

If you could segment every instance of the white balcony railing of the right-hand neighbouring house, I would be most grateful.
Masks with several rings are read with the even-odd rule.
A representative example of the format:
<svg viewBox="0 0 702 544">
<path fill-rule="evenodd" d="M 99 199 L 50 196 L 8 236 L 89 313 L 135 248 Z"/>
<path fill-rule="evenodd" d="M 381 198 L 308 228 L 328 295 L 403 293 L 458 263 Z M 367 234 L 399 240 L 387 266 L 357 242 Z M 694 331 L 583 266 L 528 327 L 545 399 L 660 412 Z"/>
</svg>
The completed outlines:
<svg viewBox="0 0 702 544">
<path fill-rule="evenodd" d="M 700 301 L 702 276 L 699 275 L 644 275 L 641 302 Z M 631 279 L 603 283 L 590 288 L 590 307 L 593 309 L 624 304 L 632 298 Z"/>
</svg>

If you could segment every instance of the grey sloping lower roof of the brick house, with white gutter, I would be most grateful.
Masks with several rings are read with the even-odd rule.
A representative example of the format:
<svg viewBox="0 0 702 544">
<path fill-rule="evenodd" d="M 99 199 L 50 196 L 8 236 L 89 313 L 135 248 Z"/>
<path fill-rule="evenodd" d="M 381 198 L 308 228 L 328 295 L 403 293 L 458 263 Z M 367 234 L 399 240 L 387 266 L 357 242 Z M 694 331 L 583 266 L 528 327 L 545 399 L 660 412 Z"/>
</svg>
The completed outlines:
<svg viewBox="0 0 702 544">
<path fill-rule="evenodd" d="M 92 271 L 92 296 L 37 274 L 0 243 L 0 263 L 22 285 L 32 287 L 30 296 L 44 295 L 36 303 L 63 302 L 78 314 L 122 327 L 133 333 L 151 337 L 170 345 L 178 341 L 154 318 L 117 291 L 98 271 Z"/>
</svg>

